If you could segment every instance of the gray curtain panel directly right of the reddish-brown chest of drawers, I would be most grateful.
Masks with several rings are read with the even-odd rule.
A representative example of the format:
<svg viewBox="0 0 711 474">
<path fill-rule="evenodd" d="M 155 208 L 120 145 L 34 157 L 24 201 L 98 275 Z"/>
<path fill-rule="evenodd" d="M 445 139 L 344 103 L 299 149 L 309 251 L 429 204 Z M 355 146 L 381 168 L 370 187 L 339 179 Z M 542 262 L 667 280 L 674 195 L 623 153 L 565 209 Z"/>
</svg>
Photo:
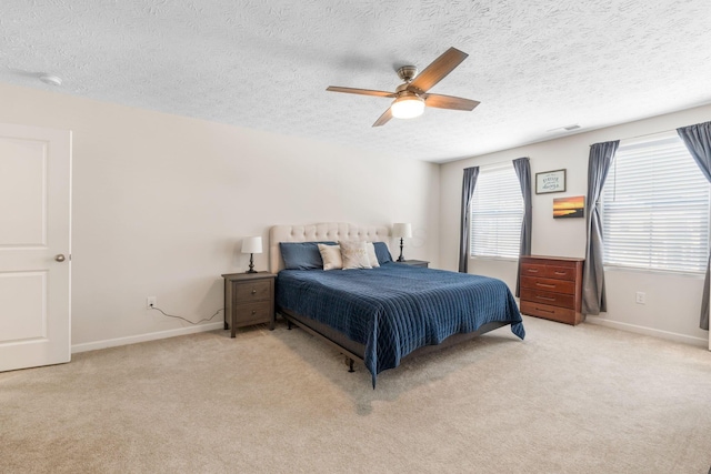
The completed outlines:
<svg viewBox="0 0 711 474">
<path fill-rule="evenodd" d="M 585 201 L 585 264 L 582 271 L 582 313 L 600 314 L 608 311 L 602 268 L 602 222 L 598 201 L 608 178 L 610 163 L 620 144 L 619 140 L 590 145 L 588 161 L 588 198 Z"/>
</svg>

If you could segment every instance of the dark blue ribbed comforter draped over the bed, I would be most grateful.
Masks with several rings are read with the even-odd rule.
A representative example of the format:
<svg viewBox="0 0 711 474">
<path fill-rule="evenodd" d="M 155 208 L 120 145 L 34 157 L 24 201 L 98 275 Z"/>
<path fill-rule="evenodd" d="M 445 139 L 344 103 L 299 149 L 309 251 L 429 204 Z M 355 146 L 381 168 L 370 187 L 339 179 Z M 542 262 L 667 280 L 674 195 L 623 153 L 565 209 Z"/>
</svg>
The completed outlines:
<svg viewBox="0 0 711 474">
<path fill-rule="evenodd" d="M 282 270 L 277 305 L 303 314 L 365 346 L 373 387 L 415 349 L 489 322 L 525 331 L 513 295 L 501 280 L 387 263 L 371 270 Z"/>
</svg>

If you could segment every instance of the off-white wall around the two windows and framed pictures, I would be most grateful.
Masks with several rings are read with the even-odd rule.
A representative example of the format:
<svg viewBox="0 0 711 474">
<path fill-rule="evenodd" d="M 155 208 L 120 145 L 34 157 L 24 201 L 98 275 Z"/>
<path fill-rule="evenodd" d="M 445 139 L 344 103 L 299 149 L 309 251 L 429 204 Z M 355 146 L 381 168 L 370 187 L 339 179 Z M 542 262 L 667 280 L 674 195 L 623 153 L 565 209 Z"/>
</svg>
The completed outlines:
<svg viewBox="0 0 711 474">
<path fill-rule="evenodd" d="M 552 202 L 553 198 L 585 195 L 588 192 L 589 147 L 598 142 L 674 130 L 705 122 L 710 118 L 711 105 L 705 105 L 441 165 L 440 264 L 449 270 L 458 268 L 464 168 L 529 157 L 532 178 L 539 172 L 565 169 L 567 192 L 533 194 L 532 253 L 584 258 L 584 219 L 553 220 Z M 500 278 L 511 288 L 515 285 L 517 265 L 512 262 L 470 260 L 469 271 Z M 708 344 L 708 333 L 699 329 L 702 276 L 608 271 L 605 283 L 608 313 L 589 316 L 588 321 L 692 344 Z M 635 303 L 637 291 L 647 293 L 645 305 Z"/>
</svg>

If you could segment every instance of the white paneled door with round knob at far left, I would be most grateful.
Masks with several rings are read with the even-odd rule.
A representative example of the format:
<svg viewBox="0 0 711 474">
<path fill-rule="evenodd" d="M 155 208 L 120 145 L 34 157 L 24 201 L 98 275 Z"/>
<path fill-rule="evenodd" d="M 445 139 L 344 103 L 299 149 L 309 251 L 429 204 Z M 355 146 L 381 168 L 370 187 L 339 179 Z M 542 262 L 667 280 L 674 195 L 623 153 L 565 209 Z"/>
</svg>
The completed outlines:
<svg viewBox="0 0 711 474">
<path fill-rule="evenodd" d="M 0 371 L 69 362 L 71 132 L 0 124 Z"/>
</svg>

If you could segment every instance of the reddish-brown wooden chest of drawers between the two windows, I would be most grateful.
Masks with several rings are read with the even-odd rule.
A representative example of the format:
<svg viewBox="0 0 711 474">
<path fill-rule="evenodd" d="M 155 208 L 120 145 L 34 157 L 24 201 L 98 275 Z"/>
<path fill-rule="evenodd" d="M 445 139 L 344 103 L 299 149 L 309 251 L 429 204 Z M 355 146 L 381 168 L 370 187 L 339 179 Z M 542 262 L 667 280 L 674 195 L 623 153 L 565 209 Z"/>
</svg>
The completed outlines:
<svg viewBox="0 0 711 474">
<path fill-rule="evenodd" d="M 579 324 L 583 259 L 521 256 L 521 313 Z"/>
</svg>

